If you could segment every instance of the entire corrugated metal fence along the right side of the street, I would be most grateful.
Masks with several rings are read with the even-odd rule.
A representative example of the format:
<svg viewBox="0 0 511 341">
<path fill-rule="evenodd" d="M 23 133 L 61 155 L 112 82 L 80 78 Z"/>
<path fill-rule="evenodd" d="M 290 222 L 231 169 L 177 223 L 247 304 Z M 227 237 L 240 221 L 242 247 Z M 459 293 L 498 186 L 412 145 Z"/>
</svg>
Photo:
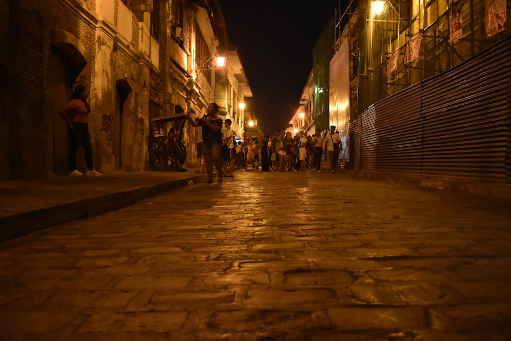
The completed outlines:
<svg viewBox="0 0 511 341">
<path fill-rule="evenodd" d="M 356 170 L 509 183 L 511 38 L 375 103 L 350 133 Z"/>
</svg>

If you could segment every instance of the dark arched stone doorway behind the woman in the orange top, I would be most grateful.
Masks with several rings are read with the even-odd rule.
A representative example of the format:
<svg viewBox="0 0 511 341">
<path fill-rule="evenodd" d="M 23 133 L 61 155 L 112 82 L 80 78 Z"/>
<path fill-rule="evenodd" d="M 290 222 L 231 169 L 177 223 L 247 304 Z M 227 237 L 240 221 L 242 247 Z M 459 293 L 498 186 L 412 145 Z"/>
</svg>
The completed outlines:
<svg viewBox="0 0 511 341">
<path fill-rule="evenodd" d="M 83 44 L 69 32 L 55 30 L 50 53 L 49 73 L 49 113 L 53 124 L 50 125 L 49 136 L 53 136 L 51 159 L 53 172 L 62 174 L 69 171 L 67 154 L 69 137 L 65 121 L 59 112 L 71 97 L 73 86 L 77 83 L 90 87 L 90 56 Z M 82 150 L 79 154 L 83 153 Z M 84 171 L 83 157 L 78 155 L 78 169 Z"/>
</svg>

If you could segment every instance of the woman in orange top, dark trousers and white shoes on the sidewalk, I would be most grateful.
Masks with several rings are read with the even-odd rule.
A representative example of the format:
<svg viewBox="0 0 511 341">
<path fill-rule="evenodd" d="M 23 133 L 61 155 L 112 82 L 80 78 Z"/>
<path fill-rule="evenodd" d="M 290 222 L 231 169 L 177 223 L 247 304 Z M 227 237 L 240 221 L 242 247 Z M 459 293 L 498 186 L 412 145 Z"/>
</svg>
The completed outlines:
<svg viewBox="0 0 511 341">
<path fill-rule="evenodd" d="M 87 103 L 87 88 L 84 85 L 75 87 L 71 99 L 67 102 L 65 108 L 60 111 L 60 116 L 66 121 L 69 133 L 69 154 L 68 161 L 72 176 L 100 176 L 101 173 L 94 169 L 92 162 L 92 143 L 90 141 L 90 131 L 88 117 L 90 115 L 90 106 Z M 80 145 L 85 149 L 85 163 L 87 171 L 80 172 L 76 168 L 76 151 Z"/>
</svg>

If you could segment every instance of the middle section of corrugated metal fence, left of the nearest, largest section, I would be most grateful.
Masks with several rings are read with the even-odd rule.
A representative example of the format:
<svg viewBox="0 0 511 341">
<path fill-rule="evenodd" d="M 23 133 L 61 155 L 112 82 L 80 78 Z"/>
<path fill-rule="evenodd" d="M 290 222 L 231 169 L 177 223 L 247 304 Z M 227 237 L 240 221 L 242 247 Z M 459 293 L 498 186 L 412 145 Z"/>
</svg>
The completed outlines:
<svg viewBox="0 0 511 341">
<path fill-rule="evenodd" d="M 421 175 L 421 92 L 421 84 L 416 84 L 375 104 L 376 163 L 379 171 Z"/>
</svg>

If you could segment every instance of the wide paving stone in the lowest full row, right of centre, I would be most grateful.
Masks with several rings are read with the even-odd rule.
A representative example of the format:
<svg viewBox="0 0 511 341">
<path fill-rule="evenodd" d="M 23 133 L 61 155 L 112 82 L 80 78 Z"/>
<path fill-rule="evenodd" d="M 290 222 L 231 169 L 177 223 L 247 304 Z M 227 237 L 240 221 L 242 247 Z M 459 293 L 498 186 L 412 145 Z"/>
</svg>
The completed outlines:
<svg viewBox="0 0 511 341">
<path fill-rule="evenodd" d="M 421 307 L 327 308 L 332 324 L 341 330 L 423 328 L 426 316 Z"/>
</svg>

